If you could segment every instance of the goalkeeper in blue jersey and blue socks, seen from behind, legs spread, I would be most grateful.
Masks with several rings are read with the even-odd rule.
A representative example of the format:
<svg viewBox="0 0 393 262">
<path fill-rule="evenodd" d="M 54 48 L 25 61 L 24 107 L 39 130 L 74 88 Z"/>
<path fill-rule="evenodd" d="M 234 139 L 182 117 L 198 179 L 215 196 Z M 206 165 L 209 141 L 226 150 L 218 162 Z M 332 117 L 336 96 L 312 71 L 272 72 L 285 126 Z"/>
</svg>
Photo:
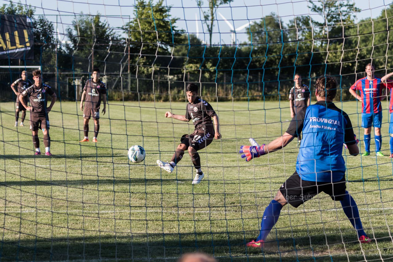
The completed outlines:
<svg viewBox="0 0 393 262">
<path fill-rule="evenodd" d="M 337 82 L 334 77 L 318 78 L 315 90 L 318 102 L 300 111 L 302 117 L 293 118 L 283 136 L 261 147 L 255 145 L 241 147 L 240 153 L 244 153 L 242 158 L 250 161 L 252 158 L 285 147 L 303 131 L 296 171 L 283 183 L 272 202 L 266 207 L 260 234 L 257 239 L 247 243 L 248 247 L 263 246 L 284 205 L 290 203 L 293 207 L 298 207 L 320 192 L 325 192 L 332 200 L 341 202 L 343 211 L 356 229 L 361 243 L 371 241 L 363 230 L 355 200 L 345 190 L 342 143 L 345 142 L 349 154 L 353 156 L 359 154 L 359 148 L 354 139 L 351 120 L 345 112 L 332 103 L 336 96 L 336 88 Z"/>
</svg>

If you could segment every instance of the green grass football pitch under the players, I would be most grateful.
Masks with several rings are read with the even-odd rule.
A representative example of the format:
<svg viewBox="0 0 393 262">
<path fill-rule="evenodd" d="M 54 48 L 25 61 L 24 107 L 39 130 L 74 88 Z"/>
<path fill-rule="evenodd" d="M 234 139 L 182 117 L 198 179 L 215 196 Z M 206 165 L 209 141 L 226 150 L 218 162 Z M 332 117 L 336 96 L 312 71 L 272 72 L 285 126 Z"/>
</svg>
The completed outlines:
<svg viewBox="0 0 393 262">
<path fill-rule="evenodd" d="M 238 150 L 249 137 L 268 143 L 285 132 L 288 101 L 211 104 L 222 139 L 200 151 L 205 178 L 193 186 L 187 154 L 172 174 L 156 166 L 157 159 L 171 158 L 183 134 L 193 132 L 192 123 L 164 117 L 167 110 L 184 114 L 185 103 L 111 101 L 101 115 L 98 143 L 80 144 L 79 104 L 58 101 L 49 116 L 52 158 L 33 155 L 28 121 L 14 127 L 15 104 L 1 103 L 1 261 L 175 261 L 196 250 L 219 261 L 393 259 L 392 162 L 373 154 L 344 156 L 347 188 L 366 233 L 375 238 L 371 244 L 359 244 L 340 203 L 322 193 L 298 209 L 286 205 L 263 252 L 247 249 L 266 205 L 295 170 L 298 147 L 293 141 L 249 163 Z M 351 114 L 363 139 L 360 105 L 337 106 Z M 387 117 L 384 110 L 386 155 Z M 93 130 L 91 120 L 90 139 Z M 132 145 L 145 148 L 144 162 L 130 163 Z"/>
</svg>

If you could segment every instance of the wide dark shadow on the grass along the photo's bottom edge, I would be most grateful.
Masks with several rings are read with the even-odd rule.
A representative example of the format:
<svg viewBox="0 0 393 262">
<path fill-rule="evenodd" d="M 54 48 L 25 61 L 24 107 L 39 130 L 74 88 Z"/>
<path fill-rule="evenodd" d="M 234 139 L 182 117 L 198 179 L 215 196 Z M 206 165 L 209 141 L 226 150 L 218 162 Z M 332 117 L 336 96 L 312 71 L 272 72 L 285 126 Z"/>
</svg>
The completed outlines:
<svg viewBox="0 0 393 262">
<path fill-rule="evenodd" d="M 132 222 L 130 222 L 132 231 Z M 64 235 L 75 232 L 69 230 Z M 95 236 L 82 235 L 94 234 Z M 287 232 L 291 235 L 291 232 Z M 58 233 L 57 233 L 58 234 Z M 2 240 L 2 261 L 176 261 L 187 252 L 202 251 L 222 261 L 359 261 L 391 258 L 392 240 L 379 233 L 362 244 L 351 235 L 305 236 L 266 242 L 264 249 L 247 248 L 243 233 L 147 234 L 80 232 L 79 237 L 42 238 L 21 235 L 21 240 Z M 343 238 L 343 240 L 342 240 Z M 345 244 L 344 244 L 345 243 Z M 364 253 L 364 255 L 363 255 Z"/>
</svg>

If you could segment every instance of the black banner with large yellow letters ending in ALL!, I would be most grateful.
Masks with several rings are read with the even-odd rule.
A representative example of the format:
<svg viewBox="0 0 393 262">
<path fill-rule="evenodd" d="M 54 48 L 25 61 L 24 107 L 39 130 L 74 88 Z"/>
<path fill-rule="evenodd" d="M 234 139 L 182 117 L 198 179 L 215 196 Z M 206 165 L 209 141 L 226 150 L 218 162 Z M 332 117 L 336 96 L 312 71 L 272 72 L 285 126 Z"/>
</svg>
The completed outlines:
<svg viewBox="0 0 393 262">
<path fill-rule="evenodd" d="M 33 59 L 33 44 L 30 18 L 0 15 L 0 59 Z"/>
</svg>

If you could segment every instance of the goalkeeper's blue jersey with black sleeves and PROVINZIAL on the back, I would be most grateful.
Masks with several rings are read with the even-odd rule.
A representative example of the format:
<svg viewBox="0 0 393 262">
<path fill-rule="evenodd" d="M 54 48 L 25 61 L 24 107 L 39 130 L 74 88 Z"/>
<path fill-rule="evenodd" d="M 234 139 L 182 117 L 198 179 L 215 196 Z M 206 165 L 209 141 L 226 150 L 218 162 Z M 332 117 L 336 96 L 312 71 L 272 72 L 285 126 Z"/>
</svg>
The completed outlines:
<svg viewBox="0 0 393 262">
<path fill-rule="evenodd" d="M 333 103 L 318 101 L 295 116 L 288 134 L 303 132 L 296 161 L 302 180 L 340 181 L 345 174 L 343 143 L 354 145 L 354 133 L 348 115 Z"/>
</svg>

